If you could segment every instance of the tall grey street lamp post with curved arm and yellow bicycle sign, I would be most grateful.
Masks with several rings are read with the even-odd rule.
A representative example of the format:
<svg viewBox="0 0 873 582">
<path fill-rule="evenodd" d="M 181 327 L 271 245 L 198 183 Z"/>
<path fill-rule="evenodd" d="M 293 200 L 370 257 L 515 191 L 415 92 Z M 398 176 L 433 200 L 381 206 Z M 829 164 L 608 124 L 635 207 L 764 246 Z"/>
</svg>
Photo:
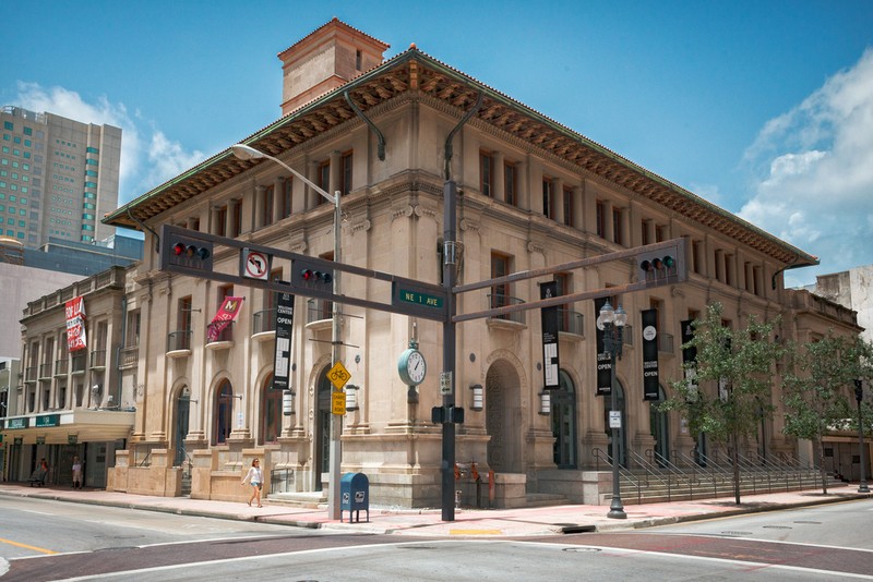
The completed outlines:
<svg viewBox="0 0 873 582">
<path fill-rule="evenodd" d="M 314 184 L 307 177 L 268 154 L 264 154 L 260 149 L 255 149 L 244 144 L 236 144 L 230 147 L 230 150 L 239 159 L 268 159 L 273 160 L 289 172 L 291 175 L 300 179 L 306 185 L 318 192 L 323 198 L 330 201 L 334 205 L 334 263 L 340 263 L 340 239 L 339 228 L 342 226 L 342 214 L 339 209 L 339 191 L 334 192 L 334 195 L 327 194 L 324 190 Z M 334 271 L 333 277 L 333 294 L 339 294 L 339 271 Z M 335 365 L 339 361 L 339 303 L 333 302 L 333 326 L 331 331 L 331 363 Z M 343 428 L 343 417 L 337 414 L 331 414 L 331 444 L 330 444 L 330 489 L 327 496 L 327 519 L 340 519 L 339 509 L 339 470 L 342 465 L 340 456 L 343 453 L 340 437 Z M 318 468 L 316 468 L 318 470 Z"/>
</svg>

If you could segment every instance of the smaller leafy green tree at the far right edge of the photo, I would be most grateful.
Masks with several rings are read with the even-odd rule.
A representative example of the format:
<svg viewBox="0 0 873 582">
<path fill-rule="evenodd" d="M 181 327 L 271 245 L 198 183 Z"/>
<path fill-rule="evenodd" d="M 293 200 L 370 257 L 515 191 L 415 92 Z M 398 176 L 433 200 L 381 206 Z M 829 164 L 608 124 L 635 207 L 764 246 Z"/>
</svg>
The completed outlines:
<svg viewBox="0 0 873 582">
<path fill-rule="evenodd" d="M 782 385 L 787 435 L 811 440 L 816 446 L 822 472 L 822 493 L 827 494 L 824 466 L 824 436 L 834 431 L 858 431 L 858 416 L 851 403 L 854 381 L 873 374 L 873 345 L 859 336 L 834 336 L 797 347 L 790 372 Z M 870 416 L 870 404 L 864 404 Z M 870 426 L 870 420 L 864 423 Z"/>
</svg>

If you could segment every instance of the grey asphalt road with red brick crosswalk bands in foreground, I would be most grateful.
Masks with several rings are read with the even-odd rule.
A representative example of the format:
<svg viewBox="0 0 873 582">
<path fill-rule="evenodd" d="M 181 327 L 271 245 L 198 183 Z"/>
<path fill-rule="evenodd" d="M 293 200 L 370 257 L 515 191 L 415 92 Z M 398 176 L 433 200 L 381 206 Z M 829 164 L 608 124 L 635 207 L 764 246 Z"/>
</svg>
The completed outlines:
<svg viewBox="0 0 873 582">
<path fill-rule="evenodd" d="M 0 500 L 7 580 L 873 580 L 873 501 L 648 530 L 422 539 Z"/>
</svg>

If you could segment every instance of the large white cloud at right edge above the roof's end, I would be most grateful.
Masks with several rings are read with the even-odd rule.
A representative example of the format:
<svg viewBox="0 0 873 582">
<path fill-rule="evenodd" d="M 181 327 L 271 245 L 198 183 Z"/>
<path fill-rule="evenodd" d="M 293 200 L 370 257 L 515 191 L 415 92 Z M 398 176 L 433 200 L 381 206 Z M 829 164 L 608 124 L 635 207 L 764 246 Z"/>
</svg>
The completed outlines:
<svg viewBox="0 0 873 582">
<path fill-rule="evenodd" d="M 767 122 L 744 161 L 757 181 L 740 216 L 822 262 L 787 284 L 873 263 L 873 49 Z"/>
</svg>

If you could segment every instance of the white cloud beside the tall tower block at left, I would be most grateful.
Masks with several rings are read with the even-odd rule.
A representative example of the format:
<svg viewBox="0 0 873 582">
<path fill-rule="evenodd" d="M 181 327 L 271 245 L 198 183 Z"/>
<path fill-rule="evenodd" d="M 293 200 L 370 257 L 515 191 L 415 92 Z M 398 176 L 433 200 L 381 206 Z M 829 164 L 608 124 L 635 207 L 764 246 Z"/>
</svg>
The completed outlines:
<svg viewBox="0 0 873 582">
<path fill-rule="evenodd" d="M 17 105 L 36 112 L 49 112 L 83 123 L 121 128 L 121 169 L 119 205 L 144 194 L 204 159 L 201 151 L 187 151 L 153 122 L 131 116 L 124 104 L 112 104 L 106 96 L 85 101 L 79 93 L 63 87 L 46 88 L 19 82 Z"/>
</svg>

